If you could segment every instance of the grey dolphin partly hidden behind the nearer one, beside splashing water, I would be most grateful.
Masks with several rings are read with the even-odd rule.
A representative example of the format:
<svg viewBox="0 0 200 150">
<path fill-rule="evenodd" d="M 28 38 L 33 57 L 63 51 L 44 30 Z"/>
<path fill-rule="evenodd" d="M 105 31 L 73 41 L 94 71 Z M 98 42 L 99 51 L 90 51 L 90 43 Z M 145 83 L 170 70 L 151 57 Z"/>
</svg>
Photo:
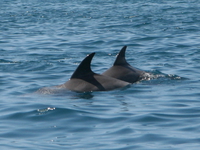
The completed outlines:
<svg viewBox="0 0 200 150">
<path fill-rule="evenodd" d="M 145 78 L 146 72 L 132 67 L 127 63 L 125 51 L 127 46 L 124 46 L 111 68 L 102 73 L 102 75 L 120 79 L 129 83 L 134 83 Z"/>
</svg>

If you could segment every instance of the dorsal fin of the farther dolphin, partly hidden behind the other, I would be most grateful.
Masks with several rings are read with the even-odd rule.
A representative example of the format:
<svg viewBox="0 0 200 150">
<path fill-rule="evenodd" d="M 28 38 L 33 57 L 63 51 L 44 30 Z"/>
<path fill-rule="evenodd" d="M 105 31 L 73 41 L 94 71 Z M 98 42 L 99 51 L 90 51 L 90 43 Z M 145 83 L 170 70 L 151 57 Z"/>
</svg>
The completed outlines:
<svg viewBox="0 0 200 150">
<path fill-rule="evenodd" d="M 120 52 L 117 54 L 117 58 L 113 64 L 113 66 L 121 66 L 121 65 L 129 65 L 125 58 L 125 52 L 126 52 L 127 46 L 124 46 Z"/>
</svg>

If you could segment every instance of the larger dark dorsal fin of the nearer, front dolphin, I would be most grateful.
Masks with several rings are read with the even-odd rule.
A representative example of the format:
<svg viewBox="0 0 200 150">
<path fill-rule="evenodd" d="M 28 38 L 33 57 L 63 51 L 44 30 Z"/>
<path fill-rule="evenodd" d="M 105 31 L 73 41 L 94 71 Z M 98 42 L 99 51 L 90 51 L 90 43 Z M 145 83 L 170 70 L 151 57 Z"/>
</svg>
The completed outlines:
<svg viewBox="0 0 200 150">
<path fill-rule="evenodd" d="M 71 79 L 81 78 L 82 76 L 85 76 L 87 74 L 94 73 L 90 67 L 91 61 L 94 55 L 95 53 L 91 53 L 85 57 L 85 59 L 79 64 L 79 66 L 76 68 L 76 70 L 72 74 Z"/>
</svg>

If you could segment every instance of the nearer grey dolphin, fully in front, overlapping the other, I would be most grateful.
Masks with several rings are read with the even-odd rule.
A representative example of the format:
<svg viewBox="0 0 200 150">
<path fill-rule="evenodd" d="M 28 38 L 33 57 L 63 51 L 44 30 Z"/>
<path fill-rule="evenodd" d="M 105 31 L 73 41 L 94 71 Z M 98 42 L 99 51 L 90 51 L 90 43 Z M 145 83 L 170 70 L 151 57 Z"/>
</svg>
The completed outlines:
<svg viewBox="0 0 200 150">
<path fill-rule="evenodd" d="M 94 73 L 91 61 L 95 53 L 91 53 L 79 64 L 71 78 L 59 88 L 75 92 L 110 91 L 130 85 L 130 83 L 109 76 Z"/>
</svg>

